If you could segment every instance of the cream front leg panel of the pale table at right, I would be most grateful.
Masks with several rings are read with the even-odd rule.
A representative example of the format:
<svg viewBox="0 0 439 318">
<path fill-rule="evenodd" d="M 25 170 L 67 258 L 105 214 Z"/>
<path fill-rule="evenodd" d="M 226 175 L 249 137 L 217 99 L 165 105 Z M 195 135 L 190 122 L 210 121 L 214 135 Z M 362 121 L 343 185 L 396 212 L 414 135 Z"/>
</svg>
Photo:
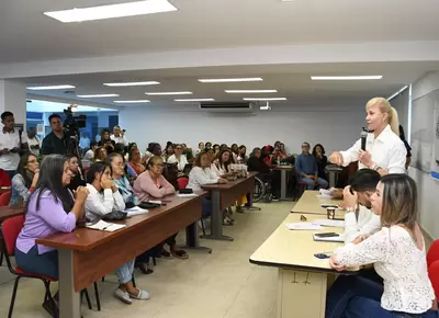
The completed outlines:
<svg viewBox="0 0 439 318">
<path fill-rule="evenodd" d="M 327 274 L 279 269 L 278 318 L 325 317 Z"/>
</svg>

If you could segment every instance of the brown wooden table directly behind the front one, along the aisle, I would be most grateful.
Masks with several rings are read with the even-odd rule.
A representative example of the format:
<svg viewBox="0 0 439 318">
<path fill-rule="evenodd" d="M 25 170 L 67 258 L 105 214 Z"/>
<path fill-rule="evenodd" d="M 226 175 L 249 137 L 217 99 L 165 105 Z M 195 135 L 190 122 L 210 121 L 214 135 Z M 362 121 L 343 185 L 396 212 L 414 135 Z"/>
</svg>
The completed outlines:
<svg viewBox="0 0 439 318">
<path fill-rule="evenodd" d="M 229 240 L 234 239 L 223 235 L 223 211 L 234 205 L 243 195 L 250 193 L 250 206 L 255 189 L 255 175 L 258 172 L 248 172 L 247 178 L 237 179 L 226 184 L 210 184 L 201 186 L 211 192 L 212 216 L 211 234 L 203 236 L 206 239 Z"/>
</svg>

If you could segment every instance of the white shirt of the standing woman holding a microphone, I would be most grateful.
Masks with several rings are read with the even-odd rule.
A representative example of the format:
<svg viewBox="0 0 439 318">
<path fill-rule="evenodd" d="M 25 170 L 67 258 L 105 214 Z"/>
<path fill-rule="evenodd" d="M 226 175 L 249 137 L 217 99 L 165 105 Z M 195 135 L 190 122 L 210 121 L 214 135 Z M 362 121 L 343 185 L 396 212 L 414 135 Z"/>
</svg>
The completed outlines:
<svg viewBox="0 0 439 318">
<path fill-rule="evenodd" d="M 358 160 L 358 154 L 361 149 L 361 139 L 346 151 L 340 151 L 344 157 L 342 166 Z M 373 133 L 368 134 L 365 150 L 372 155 L 372 161 L 387 173 L 405 173 L 405 161 L 407 150 L 399 136 L 392 132 L 387 125 L 384 130 L 375 138 Z M 364 164 L 358 164 L 358 169 L 367 168 Z"/>
</svg>

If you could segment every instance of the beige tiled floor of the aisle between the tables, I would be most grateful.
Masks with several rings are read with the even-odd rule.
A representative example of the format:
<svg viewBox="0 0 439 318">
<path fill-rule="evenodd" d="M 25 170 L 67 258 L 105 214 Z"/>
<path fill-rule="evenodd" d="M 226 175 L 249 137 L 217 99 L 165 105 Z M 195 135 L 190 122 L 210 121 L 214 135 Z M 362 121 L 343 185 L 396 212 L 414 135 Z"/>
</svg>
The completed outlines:
<svg viewBox="0 0 439 318">
<path fill-rule="evenodd" d="M 275 317 L 277 270 L 249 263 L 250 254 L 270 236 L 289 214 L 292 202 L 258 204 L 260 212 L 234 214 L 236 225 L 225 227 L 235 241 L 201 240 L 213 249 L 212 254 L 189 251 L 188 260 L 159 259 L 151 275 L 136 274 L 139 287 L 149 291 L 147 302 L 122 304 L 112 295 L 116 279 L 108 275 L 100 283 L 102 310 L 97 311 L 94 293 L 90 288 L 93 310 L 83 306 L 85 318 L 271 318 Z M 183 239 L 183 235 L 179 235 Z M 13 281 L 7 269 L 0 269 L 0 317 L 7 317 Z M 9 281 L 9 282 L 8 282 Z M 56 289 L 56 286 L 54 286 Z M 44 318 L 41 307 L 43 284 L 20 282 L 13 317 Z"/>
</svg>

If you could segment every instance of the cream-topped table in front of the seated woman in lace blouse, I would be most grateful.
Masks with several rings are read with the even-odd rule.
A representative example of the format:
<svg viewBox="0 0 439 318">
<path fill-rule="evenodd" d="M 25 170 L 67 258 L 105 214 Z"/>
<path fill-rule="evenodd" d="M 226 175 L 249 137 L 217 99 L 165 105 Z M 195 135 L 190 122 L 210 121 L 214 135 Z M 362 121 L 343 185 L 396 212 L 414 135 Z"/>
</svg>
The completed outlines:
<svg viewBox="0 0 439 318">
<path fill-rule="evenodd" d="M 326 218 L 306 215 L 308 222 Z M 300 214 L 290 214 L 274 232 L 250 257 L 250 263 L 279 268 L 278 318 L 325 317 L 326 292 L 336 272 L 328 259 L 315 253 L 329 252 L 342 243 L 314 241 L 313 232 L 342 232 L 342 228 L 324 230 L 289 230 L 288 223 L 301 222 Z"/>
</svg>

